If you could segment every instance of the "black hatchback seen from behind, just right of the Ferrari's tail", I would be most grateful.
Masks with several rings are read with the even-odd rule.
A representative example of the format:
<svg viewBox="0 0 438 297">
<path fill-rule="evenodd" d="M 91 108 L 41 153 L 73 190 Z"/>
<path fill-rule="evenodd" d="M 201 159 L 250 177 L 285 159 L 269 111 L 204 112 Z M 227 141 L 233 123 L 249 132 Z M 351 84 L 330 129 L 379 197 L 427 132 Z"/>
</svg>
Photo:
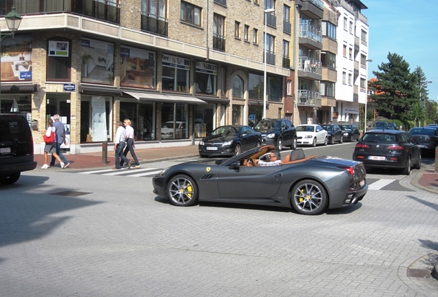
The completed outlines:
<svg viewBox="0 0 438 297">
<path fill-rule="evenodd" d="M 372 130 L 357 142 L 353 160 L 365 168 L 400 168 L 409 175 L 412 166 L 421 167 L 421 151 L 406 131 Z"/>
</svg>

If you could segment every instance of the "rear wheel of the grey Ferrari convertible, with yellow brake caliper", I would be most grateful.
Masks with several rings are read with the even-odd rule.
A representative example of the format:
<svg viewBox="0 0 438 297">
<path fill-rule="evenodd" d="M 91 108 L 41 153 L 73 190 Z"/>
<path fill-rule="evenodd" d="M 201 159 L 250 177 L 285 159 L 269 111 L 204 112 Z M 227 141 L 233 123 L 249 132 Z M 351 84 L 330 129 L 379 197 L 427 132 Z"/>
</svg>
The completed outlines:
<svg viewBox="0 0 438 297">
<path fill-rule="evenodd" d="M 322 184 L 304 179 L 290 192 L 291 204 L 300 214 L 320 214 L 326 209 L 328 195 Z"/>
</svg>

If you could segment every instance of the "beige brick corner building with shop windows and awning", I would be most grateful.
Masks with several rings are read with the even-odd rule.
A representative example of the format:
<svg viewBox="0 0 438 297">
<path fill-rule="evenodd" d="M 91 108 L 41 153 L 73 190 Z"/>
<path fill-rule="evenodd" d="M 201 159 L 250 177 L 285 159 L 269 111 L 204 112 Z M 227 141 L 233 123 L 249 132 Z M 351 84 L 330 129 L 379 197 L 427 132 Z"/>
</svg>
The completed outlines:
<svg viewBox="0 0 438 297">
<path fill-rule="evenodd" d="M 1 43 L 0 111 L 27 116 L 35 153 L 55 113 L 70 153 L 100 151 L 125 118 L 147 148 L 284 117 L 286 102 L 294 113 L 293 1 L 6 0 L 2 33 L 13 6 L 23 19 Z"/>
</svg>

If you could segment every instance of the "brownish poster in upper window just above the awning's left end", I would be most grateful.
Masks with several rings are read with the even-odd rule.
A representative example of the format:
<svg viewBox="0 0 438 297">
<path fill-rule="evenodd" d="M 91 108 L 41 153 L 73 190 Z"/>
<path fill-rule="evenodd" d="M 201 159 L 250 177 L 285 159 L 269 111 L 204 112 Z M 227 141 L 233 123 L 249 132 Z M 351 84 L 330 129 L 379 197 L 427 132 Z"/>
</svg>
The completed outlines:
<svg viewBox="0 0 438 297">
<path fill-rule="evenodd" d="M 121 46 L 122 87 L 155 89 L 155 53 Z"/>
</svg>

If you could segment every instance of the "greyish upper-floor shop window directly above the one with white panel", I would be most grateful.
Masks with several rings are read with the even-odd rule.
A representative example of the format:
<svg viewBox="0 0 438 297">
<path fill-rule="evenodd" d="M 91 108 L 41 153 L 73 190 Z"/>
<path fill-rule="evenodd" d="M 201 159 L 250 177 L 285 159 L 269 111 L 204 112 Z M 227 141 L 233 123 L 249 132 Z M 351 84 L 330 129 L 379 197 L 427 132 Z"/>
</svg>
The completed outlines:
<svg viewBox="0 0 438 297">
<path fill-rule="evenodd" d="M 114 85 L 114 44 L 81 39 L 83 83 Z"/>
</svg>

